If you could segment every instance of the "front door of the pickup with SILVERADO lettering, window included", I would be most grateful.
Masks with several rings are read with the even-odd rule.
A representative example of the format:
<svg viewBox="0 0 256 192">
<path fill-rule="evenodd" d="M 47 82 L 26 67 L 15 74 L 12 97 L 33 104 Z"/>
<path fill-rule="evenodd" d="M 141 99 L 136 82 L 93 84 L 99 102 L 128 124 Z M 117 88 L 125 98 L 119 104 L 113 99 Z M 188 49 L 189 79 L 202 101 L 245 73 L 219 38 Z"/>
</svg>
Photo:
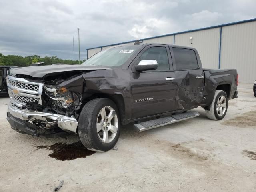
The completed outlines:
<svg viewBox="0 0 256 192">
<path fill-rule="evenodd" d="M 131 71 L 132 118 L 143 118 L 174 110 L 176 82 L 170 49 L 165 45 L 146 46 L 132 65 L 140 60 L 156 60 L 158 68 L 144 72 Z"/>
</svg>

